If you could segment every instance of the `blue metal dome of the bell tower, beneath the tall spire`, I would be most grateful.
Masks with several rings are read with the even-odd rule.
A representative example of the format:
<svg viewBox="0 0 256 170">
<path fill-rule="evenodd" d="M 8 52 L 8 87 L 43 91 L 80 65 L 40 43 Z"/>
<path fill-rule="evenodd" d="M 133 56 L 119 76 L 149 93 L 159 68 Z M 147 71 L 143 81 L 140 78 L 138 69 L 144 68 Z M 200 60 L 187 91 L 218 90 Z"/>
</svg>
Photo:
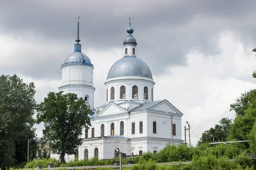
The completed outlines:
<svg viewBox="0 0 256 170">
<path fill-rule="evenodd" d="M 81 53 L 80 51 L 74 51 L 73 53 L 69 54 L 66 59 L 64 60 L 64 64 L 61 65 L 89 65 L 93 66 L 90 62 L 89 57 L 85 55 L 84 53 Z"/>
</svg>

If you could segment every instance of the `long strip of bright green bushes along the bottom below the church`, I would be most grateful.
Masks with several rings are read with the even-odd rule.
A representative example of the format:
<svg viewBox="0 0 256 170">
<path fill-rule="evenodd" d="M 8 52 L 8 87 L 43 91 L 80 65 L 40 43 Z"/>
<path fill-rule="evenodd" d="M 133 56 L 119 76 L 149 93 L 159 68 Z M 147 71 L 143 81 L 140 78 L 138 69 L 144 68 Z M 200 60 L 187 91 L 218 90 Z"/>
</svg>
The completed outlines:
<svg viewBox="0 0 256 170">
<path fill-rule="evenodd" d="M 233 159 L 234 161 L 230 161 Z M 52 163 L 49 159 L 43 159 L 45 165 Z M 59 167 L 77 167 L 77 166 L 93 166 L 93 165 L 113 165 L 114 161 L 119 158 L 107 160 L 91 159 L 75 159 Z M 122 159 L 122 164 L 128 164 L 131 158 Z M 29 162 L 26 167 L 35 167 L 36 164 L 44 164 L 36 159 L 35 162 Z M 162 162 L 178 162 L 191 161 L 188 165 L 161 165 L 156 163 Z M 218 144 L 209 147 L 209 144 L 201 144 L 198 147 L 187 147 L 185 145 L 171 146 L 167 145 L 163 150 L 157 153 L 145 152 L 143 156 L 134 157 L 134 165 L 129 170 L 233 170 L 236 168 L 246 168 L 252 166 L 252 160 L 248 156 L 245 146 L 241 143 Z M 55 165 L 57 166 L 57 165 Z M 99 167 L 102 170 L 104 168 Z M 124 168 L 125 170 L 125 168 Z"/>
</svg>

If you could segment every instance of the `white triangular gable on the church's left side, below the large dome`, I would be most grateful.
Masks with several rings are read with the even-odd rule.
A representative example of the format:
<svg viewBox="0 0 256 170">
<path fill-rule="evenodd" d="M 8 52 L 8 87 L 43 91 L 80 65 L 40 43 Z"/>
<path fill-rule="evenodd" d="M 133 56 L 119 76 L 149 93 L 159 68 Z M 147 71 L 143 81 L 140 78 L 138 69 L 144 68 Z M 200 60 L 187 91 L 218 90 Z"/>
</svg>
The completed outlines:
<svg viewBox="0 0 256 170">
<path fill-rule="evenodd" d="M 96 116 L 109 116 L 117 113 L 125 113 L 127 112 L 124 108 L 120 107 L 119 105 L 116 105 L 115 103 L 109 103 L 105 108 L 103 108 Z"/>
</svg>

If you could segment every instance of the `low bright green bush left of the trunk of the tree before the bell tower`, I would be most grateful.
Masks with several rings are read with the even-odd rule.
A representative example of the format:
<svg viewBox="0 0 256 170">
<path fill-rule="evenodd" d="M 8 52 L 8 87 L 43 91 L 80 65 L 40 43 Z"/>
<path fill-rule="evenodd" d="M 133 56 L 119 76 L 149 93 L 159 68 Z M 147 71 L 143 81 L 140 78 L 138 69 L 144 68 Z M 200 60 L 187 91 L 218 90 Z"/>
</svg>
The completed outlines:
<svg viewBox="0 0 256 170">
<path fill-rule="evenodd" d="M 52 163 L 54 167 L 59 167 L 61 164 L 60 164 L 60 161 L 58 161 L 57 159 L 55 158 L 51 158 L 51 159 L 35 159 L 33 161 L 30 161 L 29 163 L 27 163 L 24 168 L 36 168 L 36 166 L 38 164 L 41 164 L 43 165 L 43 167 L 48 167 L 48 164 L 49 163 Z"/>
</svg>

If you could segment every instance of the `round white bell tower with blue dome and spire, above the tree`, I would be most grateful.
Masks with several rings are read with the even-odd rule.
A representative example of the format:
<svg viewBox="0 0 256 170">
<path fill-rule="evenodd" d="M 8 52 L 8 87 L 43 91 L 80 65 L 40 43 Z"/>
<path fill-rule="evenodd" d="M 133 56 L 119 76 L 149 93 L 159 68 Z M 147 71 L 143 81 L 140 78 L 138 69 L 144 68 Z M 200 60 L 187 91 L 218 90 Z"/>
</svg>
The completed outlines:
<svg viewBox="0 0 256 170">
<path fill-rule="evenodd" d="M 81 44 L 79 43 L 79 19 L 80 17 L 78 16 L 74 52 L 69 54 L 61 65 L 62 79 L 59 90 L 64 91 L 64 94 L 77 94 L 79 98 L 82 97 L 85 99 L 86 105 L 90 105 L 90 109 L 95 110 L 93 64 L 89 57 L 81 52 Z"/>
</svg>

